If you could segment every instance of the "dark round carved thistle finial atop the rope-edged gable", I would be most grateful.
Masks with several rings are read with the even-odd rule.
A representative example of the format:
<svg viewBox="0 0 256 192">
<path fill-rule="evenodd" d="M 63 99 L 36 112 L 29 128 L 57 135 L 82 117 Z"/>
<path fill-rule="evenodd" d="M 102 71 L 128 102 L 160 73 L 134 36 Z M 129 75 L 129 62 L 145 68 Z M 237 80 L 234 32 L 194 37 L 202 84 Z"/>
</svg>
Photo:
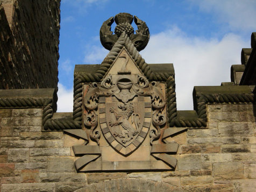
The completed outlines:
<svg viewBox="0 0 256 192">
<path fill-rule="evenodd" d="M 133 22 L 133 18 L 135 24 L 138 26 L 136 34 L 134 34 L 134 29 L 131 25 Z M 113 32 L 111 31 L 111 25 L 114 21 L 117 24 L 117 26 L 115 27 L 115 34 L 113 34 Z M 101 44 L 106 49 L 111 50 L 111 48 L 123 32 L 125 32 L 129 36 L 138 51 L 143 50 L 147 46 L 148 40 L 150 39 L 150 31 L 148 30 L 145 22 L 143 22 L 136 16 L 133 17 L 129 13 L 118 13 L 115 16 L 115 19 L 113 17 L 110 17 L 108 20 L 103 22 L 101 30 L 99 31 Z"/>
</svg>

